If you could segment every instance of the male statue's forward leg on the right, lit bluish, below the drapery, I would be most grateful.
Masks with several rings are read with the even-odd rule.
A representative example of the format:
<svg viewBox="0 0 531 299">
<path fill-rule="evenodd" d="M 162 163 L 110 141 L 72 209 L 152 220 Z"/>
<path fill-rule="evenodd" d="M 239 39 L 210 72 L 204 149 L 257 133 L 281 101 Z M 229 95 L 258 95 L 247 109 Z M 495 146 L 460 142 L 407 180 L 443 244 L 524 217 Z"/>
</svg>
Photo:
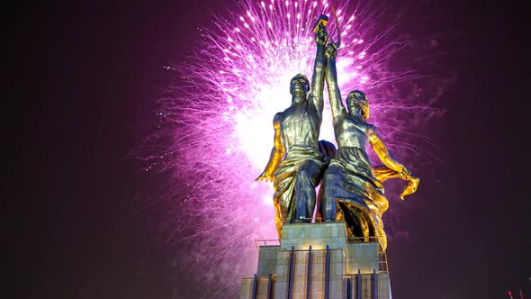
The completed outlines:
<svg viewBox="0 0 531 299">
<path fill-rule="evenodd" d="M 295 177 L 295 222 L 311 222 L 315 208 L 315 186 L 319 183 L 321 165 L 307 160 Z"/>
</svg>

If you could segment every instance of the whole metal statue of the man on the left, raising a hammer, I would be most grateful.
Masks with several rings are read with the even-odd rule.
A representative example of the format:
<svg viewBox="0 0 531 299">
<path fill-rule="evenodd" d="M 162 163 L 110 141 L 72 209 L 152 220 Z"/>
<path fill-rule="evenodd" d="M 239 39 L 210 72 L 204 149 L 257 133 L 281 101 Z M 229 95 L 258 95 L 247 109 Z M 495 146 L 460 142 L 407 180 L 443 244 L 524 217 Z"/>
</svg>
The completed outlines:
<svg viewBox="0 0 531 299">
<path fill-rule="evenodd" d="M 321 17 L 322 18 L 322 17 Z M 318 20 L 315 26 L 317 54 L 311 77 L 296 75 L 290 82 L 292 105 L 273 121 L 274 146 L 266 169 L 257 180 L 273 181 L 275 223 L 279 238 L 283 223 L 309 222 L 315 208 L 315 187 L 328 160 L 318 149 L 323 112 L 325 43 L 328 33 Z M 308 92 L 310 91 L 310 95 Z"/>
</svg>

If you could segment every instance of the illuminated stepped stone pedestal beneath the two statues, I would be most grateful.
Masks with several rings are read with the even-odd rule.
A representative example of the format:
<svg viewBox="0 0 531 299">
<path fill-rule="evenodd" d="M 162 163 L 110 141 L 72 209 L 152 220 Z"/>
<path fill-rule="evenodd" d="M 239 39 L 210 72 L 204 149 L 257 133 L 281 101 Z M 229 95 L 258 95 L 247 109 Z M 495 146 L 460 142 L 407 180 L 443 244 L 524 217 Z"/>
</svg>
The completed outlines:
<svg viewBox="0 0 531 299">
<path fill-rule="evenodd" d="M 378 242 L 349 242 L 344 222 L 284 224 L 280 245 L 259 246 L 240 299 L 391 299 Z"/>
</svg>

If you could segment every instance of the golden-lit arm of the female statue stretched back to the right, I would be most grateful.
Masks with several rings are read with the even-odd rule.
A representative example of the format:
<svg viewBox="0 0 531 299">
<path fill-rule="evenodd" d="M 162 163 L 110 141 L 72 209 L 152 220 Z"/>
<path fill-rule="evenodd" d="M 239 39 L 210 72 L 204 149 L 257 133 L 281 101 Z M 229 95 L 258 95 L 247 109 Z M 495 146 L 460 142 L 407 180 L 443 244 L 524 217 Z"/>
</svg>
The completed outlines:
<svg viewBox="0 0 531 299">
<path fill-rule="evenodd" d="M 415 193 L 415 191 L 417 191 L 417 187 L 419 186 L 419 177 L 411 174 L 410 169 L 406 168 L 403 164 L 392 157 L 391 152 L 389 149 L 387 149 L 385 144 L 383 144 L 383 140 L 380 138 L 373 126 L 369 127 L 367 135 L 369 136 L 369 142 L 373 146 L 374 152 L 376 155 L 378 155 L 378 158 L 380 158 L 383 164 L 396 172 L 398 177 L 401 177 L 401 179 L 409 181 L 408 186 L 406 186 L 401 193 L 401 199 L 403 200 L 405 195 Z M 392 172 L 386 174 L 384 174 L 383 171 L 381 172 L 384 179 L 395 177 Z"/>
</svg>

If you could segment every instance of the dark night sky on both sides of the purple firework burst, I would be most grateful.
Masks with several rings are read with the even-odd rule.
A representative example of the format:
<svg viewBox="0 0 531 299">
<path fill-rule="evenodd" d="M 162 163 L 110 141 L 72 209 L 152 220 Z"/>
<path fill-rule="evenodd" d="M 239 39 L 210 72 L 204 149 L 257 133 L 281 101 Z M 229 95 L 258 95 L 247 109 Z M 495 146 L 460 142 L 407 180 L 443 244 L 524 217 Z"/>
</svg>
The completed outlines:
<svg viewBox="0 0 531 299">
<path fill-rule="evenodd" d="M 445 100 L 438 140 L 440 181 L 408 220 L 415 242 L 390 244 L 395 298 L 531 298 L 528 140 L 529 69 L 522 6 L 419 1 L 407 26 L 442 34 L 443 61 L 457 81 Z M 509 4 L 509 2 L 508 2 Z M 156 238 L 157 182 L 127 154 L 146 133 L 161 66 L 193 50 L 194 28 L 217 1 L 26 2 L 9 32 L 16 108 L 14 173 L 3 199 L 20 256 L 14 276 L 28 298 L 192 298 L 200 285 L 168 280 Z M 229 3 L 229 5 L 231 5 Z M 529 27 L 529 26 L 527 26 Z M 11 82 L 11 81 L 8 81 Z M 11 135 L 10 134 L 10 135 Z M 8 158 L 9 159 L 9 158 Z M 432 192 L 433 191 L 433 192 Z M 12 246 L 13 245 L 13 246 Z M 185 280 L 184 280 L 185 281 Z"/>
</svg>

